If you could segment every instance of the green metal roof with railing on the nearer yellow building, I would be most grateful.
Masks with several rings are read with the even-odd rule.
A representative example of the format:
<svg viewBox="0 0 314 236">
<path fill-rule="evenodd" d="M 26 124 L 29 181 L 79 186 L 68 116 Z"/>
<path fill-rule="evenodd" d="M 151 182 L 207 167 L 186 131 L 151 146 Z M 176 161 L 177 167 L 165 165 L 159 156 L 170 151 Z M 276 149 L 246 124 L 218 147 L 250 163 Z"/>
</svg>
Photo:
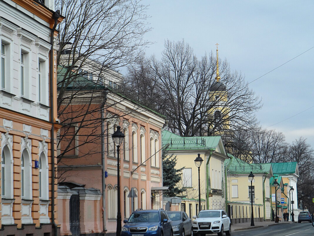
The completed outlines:
<svg viewBox="0 0 314 236">
<path fill-rule="evenodd" d="M 181 137 L 167 130 L 162 132 L 162 145 L 169 144 L 169 150 L 216 149 L 220 136 Z"/>
</svg>

